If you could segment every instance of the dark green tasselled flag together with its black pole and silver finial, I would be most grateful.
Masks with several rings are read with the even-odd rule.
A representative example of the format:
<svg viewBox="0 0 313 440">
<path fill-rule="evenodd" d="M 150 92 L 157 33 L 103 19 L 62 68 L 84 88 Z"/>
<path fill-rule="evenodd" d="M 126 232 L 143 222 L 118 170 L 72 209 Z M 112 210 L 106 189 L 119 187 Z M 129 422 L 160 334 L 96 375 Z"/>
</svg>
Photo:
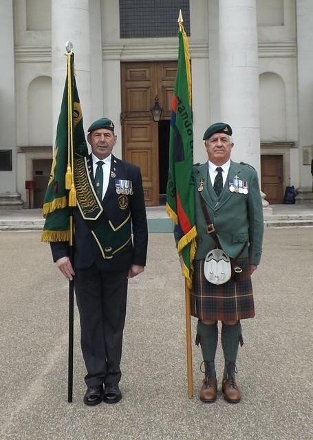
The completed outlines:
<svg viewBox="0 0 313 440">
<path fill-rule="evenodd" d="M 65 45 L 67 76 L 60 115 L 56 127 L 56 142 L 50 179 L 45 192 L 43 217 L 45 224 L 41 241 L 69 243 L 69 261 L 74 267 L 74 208 L 77 194 L 74 181 L 74 153 L 88 156 L 83 129 L 83 114 L 74 76 L 73 45 Z M 75 151 L 74 151 L 75 148 Z M 69 281 L 68 312 L 68 389 L 67 400 L 73 399 L 73 347 L 74 347 L 74 281 Z"/>
</svg>

